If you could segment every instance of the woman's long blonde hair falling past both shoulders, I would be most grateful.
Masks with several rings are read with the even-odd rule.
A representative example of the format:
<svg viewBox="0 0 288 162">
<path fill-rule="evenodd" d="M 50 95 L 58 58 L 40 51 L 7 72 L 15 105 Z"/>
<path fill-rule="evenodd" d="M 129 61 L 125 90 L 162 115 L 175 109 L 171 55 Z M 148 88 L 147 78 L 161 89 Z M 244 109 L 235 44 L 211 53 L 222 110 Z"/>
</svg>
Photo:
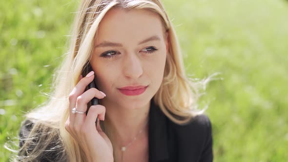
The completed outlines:
<svg viewBox="0 0 288 162">
<path fill-rule="evenodd" d="M 34 126 L 28 138 L 25 139 L 25 144 L 20 148 L 19 159 L 21 161 L 35 161 L 47 149 L 48 143 L 53 142 L 57 137 L 62 142 L 59 148 L 62 148 L 65 153 L 62 160 L 67 158 L 68 161 L 87 161 L 80 145 L 64 127 L 69 115 L 68 95 L 77 84 L 82 68 L 91 59 L 94 37 L 100 21 L 113 7 L 127 10 L 145 9 L 161 17 L 168 33 L 169 53 L 166 58 L 162 85 L 153 100 L 171 121 L 178 124 L 185 124 L 202 113 L 197 110 L 199 96 L 197 84 L 199 82 L 194 82 L 185 75 L 176 33 L 160 0 L 82 0 L 74 21 L 69 52 L 54 78 L 52 97 L 45 105 L 27 114 L 27 119 L 33 120 Z M 34 142 L 37 149 L 28 152 L 28 147 L 33 143 L 31 141 L 40 132 L 39 130 L 47 135 L 38 137 L 38 141 L 41 142 Z M 29 156 L 24 156 L 26 154 Z"/>
</svg>

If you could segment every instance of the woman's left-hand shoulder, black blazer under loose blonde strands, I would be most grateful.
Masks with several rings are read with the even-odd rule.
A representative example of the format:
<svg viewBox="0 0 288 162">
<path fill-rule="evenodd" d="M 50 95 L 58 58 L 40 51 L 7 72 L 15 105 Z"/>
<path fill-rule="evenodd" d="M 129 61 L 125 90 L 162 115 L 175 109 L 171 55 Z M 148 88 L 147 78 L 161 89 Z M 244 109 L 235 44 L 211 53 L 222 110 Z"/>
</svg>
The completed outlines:
<svg viewBox="0 0 288 162">
<path fill-rule="evenodd" d="M 34 128 L 35 127 L 35 128 Z M 65 152 L 59 130 L 39 121 L 25 120 L 19 133 L 19 158 L 36 161 L 64 161 Z"/>
</svg>

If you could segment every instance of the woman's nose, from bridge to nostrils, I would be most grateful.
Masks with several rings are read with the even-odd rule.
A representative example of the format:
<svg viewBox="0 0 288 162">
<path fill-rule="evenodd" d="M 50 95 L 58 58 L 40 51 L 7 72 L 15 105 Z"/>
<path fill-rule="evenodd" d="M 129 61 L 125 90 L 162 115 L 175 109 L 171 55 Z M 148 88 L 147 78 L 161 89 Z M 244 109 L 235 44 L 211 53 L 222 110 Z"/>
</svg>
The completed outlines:
<svg viewBox="0 0 288 162">
<path fill-rule="evenodd" d="M 141 59 L 136 54 L 128 54 L 123 67 L 123 73 L 128 78 L 137 79 L 143 74 Z"/>
</svg>

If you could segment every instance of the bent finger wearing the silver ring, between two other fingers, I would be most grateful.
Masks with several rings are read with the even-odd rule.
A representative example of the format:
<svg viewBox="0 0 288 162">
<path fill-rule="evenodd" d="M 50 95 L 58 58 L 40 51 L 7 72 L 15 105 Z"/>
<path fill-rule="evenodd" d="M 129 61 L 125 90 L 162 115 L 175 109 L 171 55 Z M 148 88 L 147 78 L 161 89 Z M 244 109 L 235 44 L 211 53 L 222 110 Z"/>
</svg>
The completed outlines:
<svg viewBox="0 0 288 162">
<path fill-rule="evenodd" d="M 99 91 L 96 88 L 88 89 L 86 92 L 84 92 L 82 95 L 80 95 L 77 98 L 77 101 L 76 101 L 77 111 L 86 112 L 87 103 L 91 101 L 94 97 L 98 99 L 103 99 L 105 96 L 103 92 Z M 84 121 L 84 119 L 85 119 L 84 114 L 76 113 L 74 117 L 74 123 L 77 123 L 77 125 L 79 124 L 82 125 L 82 122 Z"/>
</svg>

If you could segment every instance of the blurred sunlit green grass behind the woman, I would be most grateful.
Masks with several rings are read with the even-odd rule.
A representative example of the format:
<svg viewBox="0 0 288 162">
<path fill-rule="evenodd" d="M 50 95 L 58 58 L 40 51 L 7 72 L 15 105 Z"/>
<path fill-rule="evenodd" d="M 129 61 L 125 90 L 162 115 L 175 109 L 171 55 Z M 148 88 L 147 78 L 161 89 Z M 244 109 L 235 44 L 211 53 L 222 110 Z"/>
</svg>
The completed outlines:
<svg viewBox="0 0 288 162">
<path fill-rule="evenodd" d="M 206 78 L 201 105 L 213 126 L 215 162 L 288 161 L 288 1 L 163 0 L 187 73 Z M 1 0 L 0 161 L 25 112 L 50 92 L 76 0 Z M 16 141 L 17 142 L 17 141 Z"/>
</svg>

